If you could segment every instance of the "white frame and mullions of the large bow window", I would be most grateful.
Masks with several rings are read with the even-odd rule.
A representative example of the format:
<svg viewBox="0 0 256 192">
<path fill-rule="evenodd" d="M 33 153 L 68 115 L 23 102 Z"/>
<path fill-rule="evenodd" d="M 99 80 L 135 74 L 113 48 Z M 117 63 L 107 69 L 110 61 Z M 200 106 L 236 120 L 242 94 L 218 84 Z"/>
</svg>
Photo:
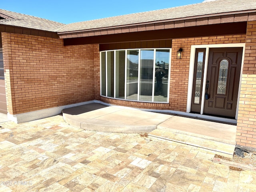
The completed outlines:
<svg viewBox="0 0 256 192">
<path fill-rule="evenodd" d="M 140 60 L 141 60 L 141 50 L 153 50 L 154 51 L 154 66 L 155 66 L 155 60 L 156 60 L 156 51 L 157 50 L 169 50 L 169 65 L 168 65 L 168 85 L 167 85 L 167 101 L 154 101 L 154 88 L 155 88 L 155 78 L 153 78 L 153 84 L 154 86 L 152 87 L 152 101 L 144 101 L 144 100 L 139 100 L 140 94 L 139 94 L 139 84 L 140 84 L 140 79 L 138 78 L 138 99 L 137 100 L 131 100 L 127 99 L 127 52 L 128 50 L 138 50 L 139 52 L 139 58 L 138 58 L 138 74 L 140 73 Z M 102 95 L 102 52 L 106 52 L 105 54 L 105 61 L 107 60 L 107 52 L 114 51 L 114 97 L 109 97 L 106 95 Z M 125 80 L 125 88 L 124 88 L 124 99 L 123 98 L 116 98 L 116 51 L 125 51 L 125 74 L 124 74 L 124 80 Z M 116 49 L 116 50 L 104 50 L 100 51 L 100 96 L 105 97 L 105 98 L 110 98 L 110 99 L 115 99 L 115 100 L 124 100 L 124 101 L 131 101 L 131 102 L 145 102 L 145 103 L 169 103 L 169 98 L 170 98 L 170 71 L 171 71 L 171 59 L 172 59 L 172 48 L 129 48 L 129 49 Z M 106 63 L 106 62 L 105 62 Z M 105 72 L 107 71 L 107 65 L 105 65 Z M 155 68 L 153 67 L 153 71 L 155 72 Z M 105 85 L 107 89 L 107 74 L 105 73 Z M 154 73 L 153 73 L 154 76 Z M 107 93 L 107 90 L 105 90 Z"/>
</svg>

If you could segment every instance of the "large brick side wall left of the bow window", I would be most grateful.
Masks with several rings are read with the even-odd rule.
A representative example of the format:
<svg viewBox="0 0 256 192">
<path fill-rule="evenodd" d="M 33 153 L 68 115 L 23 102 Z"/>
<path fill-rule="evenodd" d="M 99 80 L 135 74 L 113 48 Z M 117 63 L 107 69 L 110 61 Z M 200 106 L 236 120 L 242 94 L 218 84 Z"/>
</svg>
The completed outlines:
<svg viewBox="0 0 256 192">
<path fill-rule="evenodd" d="M 10 114 L 85 102 L 99 95 L 97 45 L 63 46 L 62 39 L 10 33 L 2 33 L 2 43 Z"/>
</svg>

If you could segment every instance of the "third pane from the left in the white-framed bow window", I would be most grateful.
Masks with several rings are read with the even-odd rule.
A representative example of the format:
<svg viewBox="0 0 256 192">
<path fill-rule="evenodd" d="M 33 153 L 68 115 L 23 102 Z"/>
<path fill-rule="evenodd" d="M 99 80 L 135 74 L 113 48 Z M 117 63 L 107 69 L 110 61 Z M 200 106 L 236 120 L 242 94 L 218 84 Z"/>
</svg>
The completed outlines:
<svg viewBox="0 0 256 192">
<path fill-rule="evenodd" d="M 125 51 L 116 51 L 116 98 L 124 99 Z"/>
</svg>

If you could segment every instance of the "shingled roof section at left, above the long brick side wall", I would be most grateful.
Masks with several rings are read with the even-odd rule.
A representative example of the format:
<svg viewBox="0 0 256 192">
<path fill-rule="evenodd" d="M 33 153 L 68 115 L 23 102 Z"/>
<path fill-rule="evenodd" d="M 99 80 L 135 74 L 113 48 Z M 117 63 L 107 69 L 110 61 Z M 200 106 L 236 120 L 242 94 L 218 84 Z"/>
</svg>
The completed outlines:
<svg viewBox="0 0 256 192">
<path fill-rule="evenodd" d="M 0 17 L 3 18 L 0 19 L 0 24 L 3 25 L 44 30 L 50 32 L 57 32 L 65 26 L 65 24 L 62 23 L 30 15 L 11 12 L 3 9 L 0 9 Z"/>
</svg>

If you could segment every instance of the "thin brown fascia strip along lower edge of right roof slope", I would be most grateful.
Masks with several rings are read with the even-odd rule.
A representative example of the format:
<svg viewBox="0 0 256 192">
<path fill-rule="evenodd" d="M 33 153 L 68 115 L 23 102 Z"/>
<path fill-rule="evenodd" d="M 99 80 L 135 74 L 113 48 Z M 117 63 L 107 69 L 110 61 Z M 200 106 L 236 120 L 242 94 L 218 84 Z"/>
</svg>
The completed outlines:
<svg viewBox="0 0 256 192">
<path fill-rule="evenodd" d="M 58 32 L 58 34 L 62 35 L 62 34 L 70 34 L 70 33 L 78 33 L 78 32 L 89 32 L 89 31 L 94 31 L 94 30 L 107 30 L 107 29 L 138 26 L 138 25 L 145 25 L 145 24 L 156 24 L 156 23 L 162 23 L 162 22 L 172 22 L 172 21 L 182 21 L 182 20 L 189 20 L 189 19 L 208 18 L 208 17 L 214 17 L 214 16 L 226 16 L 226 15 L 244 14 L 244 13 L 248 14 L 248 13 L 252 13 L 252 12 L 256 12 L 256 10 L 243 10 L 243 11 L 236 11 L 236 12 L 226 12 L 226 13 L 207 14 L 207 15 L 191 16 L 191 17 L 184 17 L 184 18 L 175 18 L 175 19 L 169 19 L 169 20 L 159 20 L 159 21 L 152 21 L 152 22 L 143 22 L 143 23 L 134 23 L 134 24 L 127 24 L 127 25 L 109 26 L 109 27 L 104 27 L 104 28 L 92 28 L 92 29 L 87 29 L 87 30 Z"/>
</svg>

